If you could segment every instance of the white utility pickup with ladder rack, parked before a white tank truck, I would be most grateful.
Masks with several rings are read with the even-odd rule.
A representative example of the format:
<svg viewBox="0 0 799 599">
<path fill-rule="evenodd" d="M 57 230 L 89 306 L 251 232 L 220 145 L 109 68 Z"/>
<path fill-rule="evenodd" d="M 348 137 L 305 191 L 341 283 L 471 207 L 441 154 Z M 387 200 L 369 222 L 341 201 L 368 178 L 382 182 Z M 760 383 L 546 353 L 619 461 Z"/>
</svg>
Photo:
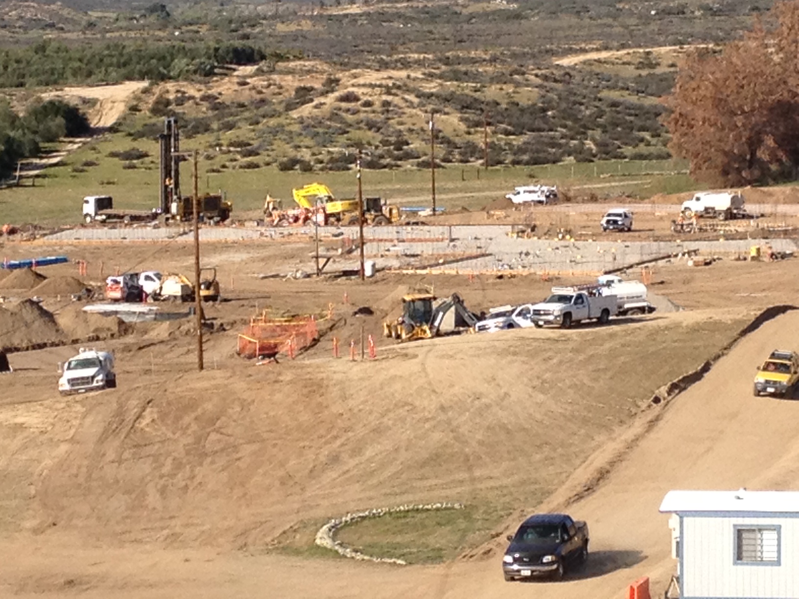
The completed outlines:
<svg viewBox="0 0 799 599">
<path fill-rule="evenodd" d="M 594 296 L 588 291 L 574 287 L 553 287 L 552 295 L 533 307 L 533 324 L 557 324 L 569 328 L 581 320 L 596 319 L 606 324 L 610 316 L 618 314 L 616 296 Z"/>
</svg>

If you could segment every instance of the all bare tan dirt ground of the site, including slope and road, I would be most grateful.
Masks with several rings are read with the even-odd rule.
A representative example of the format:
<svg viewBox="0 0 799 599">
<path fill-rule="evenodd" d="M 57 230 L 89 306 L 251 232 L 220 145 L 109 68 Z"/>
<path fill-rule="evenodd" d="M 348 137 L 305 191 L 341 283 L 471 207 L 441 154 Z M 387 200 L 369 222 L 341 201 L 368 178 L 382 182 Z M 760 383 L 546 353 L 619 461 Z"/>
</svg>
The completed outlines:
<svg viewBox="0 0 799 599">
<path fill-rule="evenodd" d="M 761 310 L 794 303 L 797 260 L 657 264 L 650 292 L 684 309 L 607 327 L 397 345 L 380 323 L 409 288 L 459 292 L 479 311 L 586 280 L 258 276 L 307 267 L 311 251 L 309 240 L 205 244 L 226 301 L 206 307 L 214 326 L 202 373 L 192 319 L 90 343 L 114 351 L 114 390 L 58 395 L 57 365 L 76 344 L 10 354 L 14 372 L 0 375 L 0 596 L 620 597 L 642 575 L 662 591 L 674 572 L 657 511 L 667 490 L 797 485 L 799 404 L 753 398 L 751 383 L 769 351 L 799 350 L 799 315 L 765 323 L 700 383 L 650 403 Z M 100 264 L 105 275 L 190 275 L 193 257 L 190 244 L 40 242 L 2 253 L 85 260 L 86 276 L 75 264 L 41 272 L 95 285 Z M 42 299 L 57 316 L 73 303 Z M 324 335 L 297 359 L 256 366 L 235 354 L 237 332 L 264 308 L 324 317 L 330 304 Z M 353 315 L 364 306 L 373 314 Z M 349 340 L 361 331 L 376 339 L 377 358 L 353 363 Z M 437 501 L 494 514 L 489 530 L 459 539 L 454 561 L 398 567 L 303 549 L 328 518 Z M 501 539 L 537 509 L 589 522 L 589 564 L 559 584 L 506 583 Z"/>
</svg>

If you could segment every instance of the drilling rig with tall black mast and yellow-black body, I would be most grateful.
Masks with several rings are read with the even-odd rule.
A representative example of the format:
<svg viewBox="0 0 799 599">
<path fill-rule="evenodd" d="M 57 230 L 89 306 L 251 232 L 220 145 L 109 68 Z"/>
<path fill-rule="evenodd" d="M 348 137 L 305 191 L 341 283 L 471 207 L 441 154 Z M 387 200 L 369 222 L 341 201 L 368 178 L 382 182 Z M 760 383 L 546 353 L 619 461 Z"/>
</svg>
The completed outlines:
<svg viewBox="0 0 799 599">
<path fill-rule="evenodd" d="M 192 196 L 181 195 L 181 134 L 177 126 L 177 118 L 164 119 L 164 133 L 158 136 L 161 145 L 161 185 L 160 209 L 164 220 L 185 222 L 194 217 Z M 220 223 L 228 220 L 233 204 L 225 199 L 225 194 L 206 193 L 200 196 L 197 206 L 199 220 Z"/>
</svg>

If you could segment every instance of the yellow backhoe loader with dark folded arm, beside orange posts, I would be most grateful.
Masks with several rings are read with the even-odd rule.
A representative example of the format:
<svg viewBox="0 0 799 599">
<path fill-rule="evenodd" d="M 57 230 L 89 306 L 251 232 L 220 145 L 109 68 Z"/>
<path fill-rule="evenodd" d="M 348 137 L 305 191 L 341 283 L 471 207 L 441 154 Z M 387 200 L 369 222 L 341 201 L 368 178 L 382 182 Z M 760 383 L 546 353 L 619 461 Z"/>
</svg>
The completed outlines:
<svg viewBox="0 0 799 599">
<path fill-rule="evenodd" d="M 479 315 L 471 312 L 457 293 L 453 293 L 438 305 L 435 305 L 435 300 L 435 296 L 431 293 L 412 293 L 403 296 L 402 315 L 396 320 L 384 322 L 383 334 L 400 342 L 431 339 L 439 335 L 444 316 L 453 309 L 455 328 L 473 329 L 479 322 Z"/>
</svg>

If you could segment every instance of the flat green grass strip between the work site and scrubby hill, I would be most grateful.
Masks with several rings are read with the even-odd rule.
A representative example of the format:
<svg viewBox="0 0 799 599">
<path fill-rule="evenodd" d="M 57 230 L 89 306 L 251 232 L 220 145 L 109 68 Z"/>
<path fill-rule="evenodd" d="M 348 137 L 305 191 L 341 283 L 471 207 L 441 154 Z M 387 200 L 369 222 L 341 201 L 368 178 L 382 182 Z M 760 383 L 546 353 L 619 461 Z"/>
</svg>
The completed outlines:
<svg viewBox="0 0 799 599">
<path fill-rule="evenodd" d="M 327 184 L 341 198 L 356 195 L 355 170 L 344 173 L 280 172 L 275 166 L 259 169 L 234 169 L 241 162 L 233 154 L 217 154 L 204 159 L 211 145 L 210 137 L 184 142 L 181 149 L 200 150 L 198 187 L 201 193 L 224 191 L 233 200 L 234 217 L 254 217 L 263 208 L 264 197 L 282 198 L 284 207 L 292 206 L 291 190 L 315 181 Z M 149 153 L 136 161 L 136 169 L 124 169 L 125 163 L 108 153 L 136 147 Z M 113 196 L 117 208 L 149 209 L 158 203 L 158 148 L 148 140 L 131 141 L 123 134 L 97 139 L 66 157 L 62 165 L 46 169 L 42 177 L 24 180 L 16 188 L 0 189 L 0 221 L 11 224 L 76 224 L 81 221 L 81 198 L 87 195 Z M 258 161 L 258 158 L 252 159 Z M 96 166 L 83 166 L 86 161 Z M 219 169 L 223 162 L 229 169 Z M 74 168 L 85 172 L 74 172 Z M 655 193 L 690 191 L 697 184 L 684 171 L 684 161 L 603 161 L 581 164 L 542 165 L 535 167 L 492 167 L 447 165 L 436 169 L 436 196 L 439 207 L 479 210 L 491 201 L 511 192 L 515 185 L 557 184 L 570 188 L 573 196 L 594 192 L 599 197 L 627 195 L 646 198 Z M 192 166 L 181 166 L 181 188 L 192 192 Z M 363 173 L 364 196 L 383 196 L 396 204 L 431 203 L 431 173 L 426 169 L 403 168 Z"/>
</svg>

